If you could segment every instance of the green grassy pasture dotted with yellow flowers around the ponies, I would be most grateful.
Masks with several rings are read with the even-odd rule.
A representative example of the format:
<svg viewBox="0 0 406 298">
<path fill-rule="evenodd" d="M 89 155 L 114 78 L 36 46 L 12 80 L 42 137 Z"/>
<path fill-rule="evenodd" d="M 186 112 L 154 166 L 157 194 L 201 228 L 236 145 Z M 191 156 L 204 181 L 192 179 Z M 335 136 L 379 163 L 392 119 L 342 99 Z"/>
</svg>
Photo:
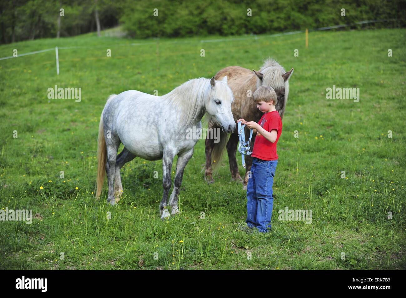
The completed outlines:
<svg viewBox="0 0 406 298">
<path fill-rule="evenodd" d="M 0 208 L 35 214 L 31 225 L 0 222 L 0 269 L 405 269 L 405 33 L 311 32 L 309 48 L 302 34 L 218 42 L 90 34 L 0 46 L 1 57 L 80 47 L 59 50 L 59 76 L 54 51 L 0 61 Z M 216 182 L 205 183 L 203 140 L 185 170 L 181 214 L 169 221 L 159 215 L 161 161 L 125 165 L 119 205 L 95 201 L 97 129 L 108 95 L 162 95 L 229 65 L 258 69 L 267 56 L 295 68 L 271 233 L 238 229 L 246 191 L 231 181 L 227 154 Z M 81 88 L 82 101 L 48 99 L 54 85 Z M 359 87 L 360 101 L 326 99 L 333 85 Z M 244 175 L 239 154 L 238 162 Z M 311 224 L 278 220 L 285 207 L 311 209 Z"/>
</svg>

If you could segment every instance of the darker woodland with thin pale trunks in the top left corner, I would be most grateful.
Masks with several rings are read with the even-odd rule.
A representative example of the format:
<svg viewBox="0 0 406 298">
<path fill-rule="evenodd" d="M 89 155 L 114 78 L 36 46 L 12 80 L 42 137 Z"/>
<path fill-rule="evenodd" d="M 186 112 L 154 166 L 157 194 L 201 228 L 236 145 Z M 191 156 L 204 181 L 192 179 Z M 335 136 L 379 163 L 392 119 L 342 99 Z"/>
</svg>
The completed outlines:
<svg viewBox="0 0 406 298">
<path fill-rule="evenodd" d="M 56 37 L 94 31 L 95 9 L 102 28 L 117 25 L 121 4 L 113 0 L 15 0 L 0 2 L 0 43 Z M 64 15 L 60 16 L 60 9 Z"/>
</svg>

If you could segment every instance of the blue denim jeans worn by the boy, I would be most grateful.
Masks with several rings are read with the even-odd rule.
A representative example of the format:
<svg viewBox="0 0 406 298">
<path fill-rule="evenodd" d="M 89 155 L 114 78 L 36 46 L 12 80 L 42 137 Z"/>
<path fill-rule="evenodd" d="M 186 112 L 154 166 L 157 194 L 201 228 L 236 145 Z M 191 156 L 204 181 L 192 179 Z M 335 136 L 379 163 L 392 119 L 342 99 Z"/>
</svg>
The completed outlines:
<svg viewBox="0 0 406 298">
<path fill-rule="evenodd" d="M 278 160 L 258 160 L 254 157 L 251 178 L 248 178 L 245 222 L 248 227 L 256 227 L 262 233 L 272 229 L 271 218 L 274 205 L 272 186 L 277 164 Z"/>
</svg>

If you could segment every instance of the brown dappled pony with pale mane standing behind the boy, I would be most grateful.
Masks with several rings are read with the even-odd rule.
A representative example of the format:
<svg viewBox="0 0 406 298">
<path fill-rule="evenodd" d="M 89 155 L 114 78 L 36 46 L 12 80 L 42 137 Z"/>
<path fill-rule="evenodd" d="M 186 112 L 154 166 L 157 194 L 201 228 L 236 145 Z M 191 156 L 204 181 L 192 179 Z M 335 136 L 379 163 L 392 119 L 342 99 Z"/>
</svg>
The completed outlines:
<svg viewBox="0 0 406 298">
<path fill-rule="evenodd" d="M 293 73 L 293 68 L 288 72 L 279 65 L 275 60 L 268 58 L 264 61 L 261 69 L 259 71 L 250 71 L 249 69 L 242 68 L 239 66 L 229 66 L 218 73 L 214 78 L 216 80 L 221 80 L 221 78 L 227 76 L 228 84 L 233 91 L 235 101 L 231 105 L 231 110 L 233 112 L 234 120 L 237 121 L 243 118 L 246 121 L 255 121 L 258 123 L 259 119 L 262 117 L 262 112 L 257 109 L 257 105 L 252 100 L 252 95 L 261 85 L 270 86 L 275 89 L 276 95 L 278 96 L 278 103 L 275 108 L 283 118 L 285 113 L 285 106 L 287 102 L 287 97 L 289 94 L 289 78 Z M 218 124 L 211 122 L 209 123 L 209 128 L 216 128 Z M 249 135 L 248 128 L 245 128 L 245 134 Z M 254 130 L 253 138 L 251 140 L 251 148 L 253 148 L 255 142 L 256 130 Z M 220 163 L 222 152 L 227 143 L 227 135 L 220 132 L 220 142 L 214 143 L 213 140 L 205 140 L 206 145 L 206 170 L 205 179 L 208 183 L 213 183 L 212 178 L 212 161 L 213 168 Z M 227 152 L 229 157 L 231 177 L 233 180 L 240 182 L 242 178 L 238 172 L 237 160 L 235 159 L 235 152 L 238 146 L 238 131 L 236 130 L 230 135 L 227 143 Z M 246 158 L 246 173 L 244 177 L 244 187 L 247 188 L 248 184 L 248 172 L 251 170 L 252 158 L 247 155 Z M 217 167 L 218 168 L 218 167 Z"/>
</svg>

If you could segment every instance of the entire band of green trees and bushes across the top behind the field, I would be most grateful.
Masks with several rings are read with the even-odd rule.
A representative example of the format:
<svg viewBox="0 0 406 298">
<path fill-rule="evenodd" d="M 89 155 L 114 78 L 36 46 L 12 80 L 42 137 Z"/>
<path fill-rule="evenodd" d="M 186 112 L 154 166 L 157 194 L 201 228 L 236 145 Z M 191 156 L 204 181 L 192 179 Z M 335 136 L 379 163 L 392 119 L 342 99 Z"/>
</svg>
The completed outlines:
<svg viewBox="0 0 406 298">
<path fill-rule="evenodd" d="M 402 19 L 385 27 L 406 24 L 402 0 L 15 0 L 0 3 L 0 43 L 56 37 L 61 8 L 61 37 L 95 31 L 96 9 L 102 28 L 120 21 L 127 34 L 138 39 L 262 34 L 367 19 Z M 382 23 L 366 26 L 380 28 Z"/>
</svg>

